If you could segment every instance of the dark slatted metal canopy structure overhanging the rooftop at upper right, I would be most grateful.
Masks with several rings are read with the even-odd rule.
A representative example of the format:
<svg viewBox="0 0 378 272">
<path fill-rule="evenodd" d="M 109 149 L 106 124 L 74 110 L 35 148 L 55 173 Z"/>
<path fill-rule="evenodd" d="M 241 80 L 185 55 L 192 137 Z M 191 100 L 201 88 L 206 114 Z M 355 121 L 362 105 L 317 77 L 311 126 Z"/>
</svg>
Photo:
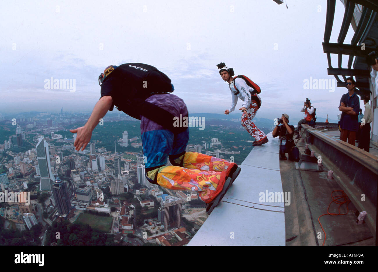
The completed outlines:
<svg viewBox="0 0 378 272">
<path fill-rule="evenodd" d="M 363 99 L 363 95 L 370 95 L 370 72 L 369 66 L 366 64 L 366 56 L 372 51 L 378 51 L 378 1 L 341 0 L 341 2 L 345 5 L 344 18 L 337 43 L 330 43 L 336 0 L 327 0 L 324 42 L 322 45 L 324 53 L 327 54 L 328 75 L 333 75 L 336 78 L 337 87 L 346 87 L 346 78 L 354 77 L 356 94 Z M 355 17 L 357 14 L 355 9 L 362 10 L 361 17 Z M 344 43 L 351 24 L 355 34 L 350 44 Z M 331 54 L 338 54 L 337 68 L 332 67 Z M 342 67 L 342 55 L 349 55 L 348 63 L 344 65 L 344 68 Z"/>
</svg>

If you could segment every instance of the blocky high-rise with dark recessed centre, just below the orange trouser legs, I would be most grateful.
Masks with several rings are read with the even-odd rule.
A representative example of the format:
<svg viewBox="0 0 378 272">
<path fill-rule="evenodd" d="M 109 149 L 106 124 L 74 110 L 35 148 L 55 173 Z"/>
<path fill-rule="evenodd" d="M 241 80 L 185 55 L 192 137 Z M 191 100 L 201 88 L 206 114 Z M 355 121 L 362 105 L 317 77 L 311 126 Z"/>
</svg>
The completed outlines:
<svg viewBox="0 0 378 272">
<path fill-rule="evenodd" d="M 158 218 L 164 224 L 164 231 L 169 228 L 181 227 L 181 216 L 183 200 L 170 195 L 161 195 L 161 206 L 158 210 Z"/>
</svg>

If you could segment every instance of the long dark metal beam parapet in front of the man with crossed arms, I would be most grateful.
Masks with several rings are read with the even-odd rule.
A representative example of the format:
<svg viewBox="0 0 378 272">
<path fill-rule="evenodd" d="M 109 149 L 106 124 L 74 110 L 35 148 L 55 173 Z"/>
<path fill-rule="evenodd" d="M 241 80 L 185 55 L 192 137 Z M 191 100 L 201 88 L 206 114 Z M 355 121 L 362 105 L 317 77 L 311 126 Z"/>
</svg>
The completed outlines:
<svg viewBox="0 0 378 272">
<path fill-rule="evenodd" d="M 307 125 L 303 128 L 310 150 L 322 157 L 322 163 L 333 171 L 333 177 L 358 211 L 367 212 L 365 221 L 375 237 L 378 158 Z M 361 195 L 366 196 L 364 201 Z"/>
</svg>

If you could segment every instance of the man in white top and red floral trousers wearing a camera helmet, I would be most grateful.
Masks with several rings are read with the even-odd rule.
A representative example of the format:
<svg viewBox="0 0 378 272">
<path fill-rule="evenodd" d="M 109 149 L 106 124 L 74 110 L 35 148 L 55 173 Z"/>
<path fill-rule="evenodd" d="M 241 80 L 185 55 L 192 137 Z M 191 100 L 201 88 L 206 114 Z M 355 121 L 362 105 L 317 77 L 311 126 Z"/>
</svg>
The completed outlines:
<svg viewBox="0 0 378 272">
<path fill-rule="evenodd" d="M 255 117 L 257 110 L 261 106 L 260 87 L 250 80 L 245 75 L 234 76 L 234 69 L 227 68 L 224 62 L 217 65 L 219 74 L 224 81 L 228 82 L 228 86 L 231 91 L 232 103 L 229 109 L 225 110 L 225 114 L 235 110 L 236 103 L 238 99 L 243 101 L 241 110 L 242 114 L 242 126 L 248 131 L 248 133 L 256 139 L 253 142 L 253 146 L 261 146 L 262 144 L 268 143 L 268 137 L 265 133 L 257 128 L 257 126 L 252 122 L 253 117 Z"/>
</svg>

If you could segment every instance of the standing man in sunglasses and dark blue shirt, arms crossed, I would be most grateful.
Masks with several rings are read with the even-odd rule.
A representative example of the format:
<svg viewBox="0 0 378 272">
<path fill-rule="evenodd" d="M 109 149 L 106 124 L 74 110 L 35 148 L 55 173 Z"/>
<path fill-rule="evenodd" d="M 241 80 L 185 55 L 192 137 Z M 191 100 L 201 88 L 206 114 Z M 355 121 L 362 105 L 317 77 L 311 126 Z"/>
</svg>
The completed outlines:
<svg viewBox="0 0 378 272">
<path fill-rule="evenodd" d="M 359 98 L 354 92 L 356 82 L 352 77 L 347 78 L 347 89 L 349 92 L 343 94 L 339 104 L 339 111 L 341 111 L 340 139 L 347 141 L 349 144 L 355 145 L 356 132 L 358 131 L 358 112 L 359 112 Z"/>
</svg>

